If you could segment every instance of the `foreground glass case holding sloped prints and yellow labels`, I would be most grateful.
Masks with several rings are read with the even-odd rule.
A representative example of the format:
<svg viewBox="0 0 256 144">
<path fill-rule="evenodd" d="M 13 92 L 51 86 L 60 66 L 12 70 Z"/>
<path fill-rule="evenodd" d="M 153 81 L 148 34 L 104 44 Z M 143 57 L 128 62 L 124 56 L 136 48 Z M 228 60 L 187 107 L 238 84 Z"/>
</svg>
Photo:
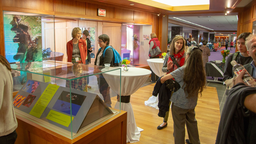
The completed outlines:
<svg viewBox="0 0 256 144">
<path fill-rule="evenodd" d="M 13 98 L 15 113 L 67 138 L 120 113 L 111 108 L 120 96 L 108 85 L 113 81 L 108 72 L 121 75 L 120 68 L 52 60 L 15 63 L 11 68 L 14 73 L 26 73 L 23 83 L 19 74 L 13 74 L 13 90 L 18 91 Z M 120 94 L 120 80 L 114 82 Z"/>
</svg>

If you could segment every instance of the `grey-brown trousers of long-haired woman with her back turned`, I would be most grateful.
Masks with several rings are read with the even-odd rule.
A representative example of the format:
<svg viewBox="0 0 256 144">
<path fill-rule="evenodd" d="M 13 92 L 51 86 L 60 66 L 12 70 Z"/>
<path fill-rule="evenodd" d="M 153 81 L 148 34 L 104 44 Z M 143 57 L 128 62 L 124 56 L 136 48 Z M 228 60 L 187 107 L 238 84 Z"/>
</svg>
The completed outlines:
<svg viewBox="0 0 256 144">
<path fill-rule="evenodd" d="M 186 110 L 174 106 L 172 103 L 172 119 L 174 128 L 174 143 L 185 144 L 185 124 L 187 127 L 189 142 L 200 144 L 195 108 Z"/>
</svg>

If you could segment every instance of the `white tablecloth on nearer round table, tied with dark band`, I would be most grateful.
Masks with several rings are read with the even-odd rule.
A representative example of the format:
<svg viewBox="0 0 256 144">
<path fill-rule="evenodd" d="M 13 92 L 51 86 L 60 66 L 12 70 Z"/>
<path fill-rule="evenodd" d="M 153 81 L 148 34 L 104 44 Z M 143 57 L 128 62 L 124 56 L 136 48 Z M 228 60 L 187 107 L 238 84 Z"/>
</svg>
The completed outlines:
<svg viewBox="0 0 256 144">
<path fill-rule="evenodd" d="M 110 88 L 121 96 L 129 96 L 135 93 L 143 84 L 146 82 L 151 74 L 151 71 L 143 68 L 128 67 L 129 71 L 123 71 L 124 67 L 121 68 L 121 94 L 120 94 L 120 71 L 111 71 L 103 73 Z M 104 71 L 102 69 L 102 71 Z M 122 97 L 121 97 L 122 99 Z M 120 102 L 116 102 L 115 108 L 119 109 Z M 138 142 L 140 140 L 140 132 L 143 129 L 138 128 L 135 122 L 132 104 L 121 103 L 121 110 L 127 111 L 127 135 L 126 142 Z"/>
</svg>

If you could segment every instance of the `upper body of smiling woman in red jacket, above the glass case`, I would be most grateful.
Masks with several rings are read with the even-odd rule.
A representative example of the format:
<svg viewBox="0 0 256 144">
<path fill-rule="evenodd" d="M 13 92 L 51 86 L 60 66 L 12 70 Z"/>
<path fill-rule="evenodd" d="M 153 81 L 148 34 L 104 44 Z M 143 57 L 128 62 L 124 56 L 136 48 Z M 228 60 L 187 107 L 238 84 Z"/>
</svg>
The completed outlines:
<svg viewBox="0 0 256 144">
<path fill-rule="evenodd" d="M 68 62 L 85 64 L 87 45 L 85 40 L 80 39 L 82 31 L 79 27 L 72 30 L 72 40 L 67 42 Z"/>
</svg>

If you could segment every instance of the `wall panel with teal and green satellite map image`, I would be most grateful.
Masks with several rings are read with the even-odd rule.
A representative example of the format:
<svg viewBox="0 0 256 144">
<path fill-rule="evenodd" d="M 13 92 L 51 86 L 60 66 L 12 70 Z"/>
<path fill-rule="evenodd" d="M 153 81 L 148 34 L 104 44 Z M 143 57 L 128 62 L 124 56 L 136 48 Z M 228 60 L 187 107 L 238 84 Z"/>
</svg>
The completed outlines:
<svg viewBox="0 0 256 144">
<path fill-rule="evenodd" d="M 4 14 L 5 57 L 9 62 L 42 61 L 41 17 Z"/>
</svg>

